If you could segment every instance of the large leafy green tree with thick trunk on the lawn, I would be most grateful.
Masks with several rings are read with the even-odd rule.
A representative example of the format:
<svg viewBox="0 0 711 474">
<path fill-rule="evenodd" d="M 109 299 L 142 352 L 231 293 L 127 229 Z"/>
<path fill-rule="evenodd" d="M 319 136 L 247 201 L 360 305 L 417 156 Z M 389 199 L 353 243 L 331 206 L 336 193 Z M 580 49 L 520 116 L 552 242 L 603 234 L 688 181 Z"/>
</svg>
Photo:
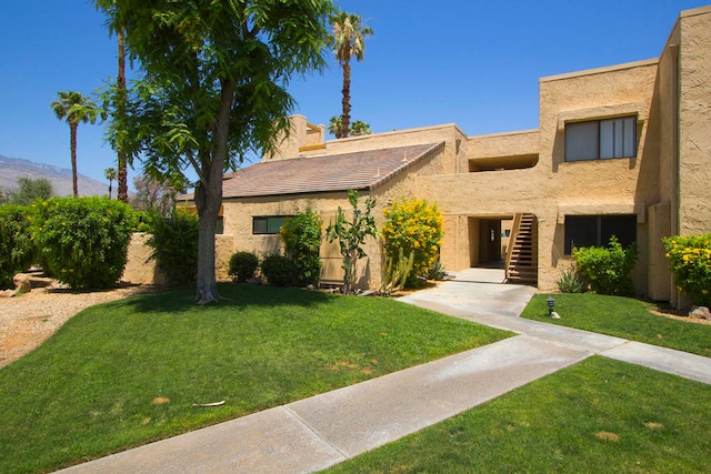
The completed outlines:
<svg viewBox="0 0 711 474">
<path fill-rule="evenodd" d="M 214 225 L 222 175 L 243 157 L 276 147 L 288 132 L 294 73 L 321 70 L 332 2 L 314 0 L 116 0 L 98 6 L 109 27 L 126 28 L 129 58 L 140 62 L 126 114 L 113 114 L 109 141 L 142 153 L 152 177 L 198 175 L 200 218 L 197 300 L 219 299 Z M 104 98 L 116 97 L 116 87 Z"/>
</svg>

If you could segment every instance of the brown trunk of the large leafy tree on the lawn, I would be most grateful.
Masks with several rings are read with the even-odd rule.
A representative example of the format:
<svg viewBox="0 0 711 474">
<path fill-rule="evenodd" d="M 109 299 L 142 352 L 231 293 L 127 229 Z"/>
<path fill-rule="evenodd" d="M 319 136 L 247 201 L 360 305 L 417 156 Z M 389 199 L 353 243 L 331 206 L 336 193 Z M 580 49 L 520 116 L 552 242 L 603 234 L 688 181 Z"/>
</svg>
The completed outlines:
<svg viewBox="0 0 711 474">
<path fill-rule="evenodd" d="M 198 226 L 198 284 L 196 300 L 208 304 L 220 299 L 214 276 L 214 225 L 222 205 L 222 170 L 227 158 L 230 113 L 237 84 L 222 81 L 220 110 L 213 137 L 212 160 L 202 160 L 202 177 L 196 188 L 196 205 L 200 218 Z"/>
</svg>

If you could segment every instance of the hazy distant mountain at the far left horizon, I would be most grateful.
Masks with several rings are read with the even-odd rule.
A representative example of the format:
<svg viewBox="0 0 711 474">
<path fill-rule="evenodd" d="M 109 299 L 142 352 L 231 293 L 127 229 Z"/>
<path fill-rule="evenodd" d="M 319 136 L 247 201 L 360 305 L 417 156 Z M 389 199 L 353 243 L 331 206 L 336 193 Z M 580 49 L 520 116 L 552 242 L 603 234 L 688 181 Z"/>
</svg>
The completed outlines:
<svg viewBox="0 0 711 474">
<path fill-rule="evenodd" d="M 54 195 L 71 195 L 71 170 L 51 164 L 34 163 L 19 158 L 7 158 L 0 154 L 0 188 L 11 191 L 18 188 L 18 178 L 46 178 L 52 183 Z M 107 183 L 93 180 L 83 174 L 78 175 L 77 186 L 80 195 L 108 195 Z"/>
</svg>

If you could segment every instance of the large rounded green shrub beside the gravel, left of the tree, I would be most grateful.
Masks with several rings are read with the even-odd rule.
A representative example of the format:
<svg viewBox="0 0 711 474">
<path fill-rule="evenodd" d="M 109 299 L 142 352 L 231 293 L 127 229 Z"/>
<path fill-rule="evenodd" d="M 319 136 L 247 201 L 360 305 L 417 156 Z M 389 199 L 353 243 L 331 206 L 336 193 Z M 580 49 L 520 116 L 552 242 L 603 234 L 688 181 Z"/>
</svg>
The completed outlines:
<svg viewBox="0 0 711 474">
<path fill-rule="evenodd" d="M 123 273 L 133 211 L 107 198 L 53 198 L 32 204 L 40 261 L 74 290 L 112 288 Z"/>
</svg>

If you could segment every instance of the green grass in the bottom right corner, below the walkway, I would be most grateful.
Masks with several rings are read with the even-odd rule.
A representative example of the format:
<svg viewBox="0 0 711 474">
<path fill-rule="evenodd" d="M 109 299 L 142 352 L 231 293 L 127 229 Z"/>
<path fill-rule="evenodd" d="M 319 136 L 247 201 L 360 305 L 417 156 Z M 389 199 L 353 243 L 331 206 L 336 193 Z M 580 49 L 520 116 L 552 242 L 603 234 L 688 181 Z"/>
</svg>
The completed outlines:
<svg viewBox="0 0 711 474">
<path fill-rule="evenodd" d="M 708 473 L 711 386 L 593 356 L 328 473 Z"/>
</svg>

